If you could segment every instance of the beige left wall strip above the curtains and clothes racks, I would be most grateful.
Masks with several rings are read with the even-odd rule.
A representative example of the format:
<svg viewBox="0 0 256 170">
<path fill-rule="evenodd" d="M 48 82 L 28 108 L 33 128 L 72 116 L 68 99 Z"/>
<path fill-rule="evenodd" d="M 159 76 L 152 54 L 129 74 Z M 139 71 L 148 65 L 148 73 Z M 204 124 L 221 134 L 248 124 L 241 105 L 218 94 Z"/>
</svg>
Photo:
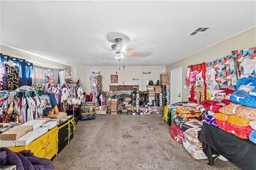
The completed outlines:
<svg viewBox="0 0 256 170">
<path fill-rule="evenodd" d="M 51 61 L 49 59 L 45 59 L 43 57 L 39 57 L 18 49 L 14 49 L 11 47 L 7 47 L 5 45 L 0 45 L 0 53 L 4 55 L 9 55 L 11 57 L 17 57 L 20 59 L 26 59 L 26 61 L 29 61 L 31 63 L 41 65 L 44 67 L 50 67 L 55 69 L 64 69 L 66 68 L 68 72 L 71 71 L 71 67 L 65 64 L 58 63 L 56 61 Z"/>
</svg>

